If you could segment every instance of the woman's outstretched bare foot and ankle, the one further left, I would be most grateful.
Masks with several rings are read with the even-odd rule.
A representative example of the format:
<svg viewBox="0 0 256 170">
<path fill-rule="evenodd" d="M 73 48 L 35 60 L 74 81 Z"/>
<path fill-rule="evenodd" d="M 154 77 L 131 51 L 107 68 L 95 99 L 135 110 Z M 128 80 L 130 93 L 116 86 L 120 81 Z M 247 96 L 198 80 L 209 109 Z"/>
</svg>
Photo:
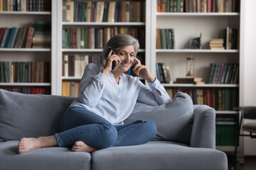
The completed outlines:
<svg viewBox="0 0 256 170">
<path fill-rule="evenodd" d="M 23 154 L 23 153 L 30 152 L 31 150 L 34 150 L 34 149 L 39 149 L 44 147 L 53 147 L 57 145 L 58 145 L 58 142 L 55 139 L 54 135 L 48 136 L 48 137 L 38 137 L 38 138 L 23 137 L 18 142 L 18 153 Z"/>
</svg>

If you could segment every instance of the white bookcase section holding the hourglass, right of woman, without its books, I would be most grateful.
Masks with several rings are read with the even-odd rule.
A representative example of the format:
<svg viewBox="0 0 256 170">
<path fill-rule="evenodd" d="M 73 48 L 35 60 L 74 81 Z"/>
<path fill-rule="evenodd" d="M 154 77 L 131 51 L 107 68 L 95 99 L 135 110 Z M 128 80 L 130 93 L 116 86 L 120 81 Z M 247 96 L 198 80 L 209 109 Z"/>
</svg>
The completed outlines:
<svg viewBox="0 0 256 170">
<path fill-rule="evenodd" d="M 208 79 L 208 69 L 210 63 L 238 63 L 240 64 L 240 49 L 210 50 L 209 42 L 213 38 L 223 38 L 225 28 L 239 28 L 240 12 L 159 12 L 156 6 L 160 1 L 152 1 L 151 27 L 152 35 L 156 35 L 156 28 L 174 29 L 174 49 L 157 49 L 156 38 L 151 39 L 151 72 L 156 75 L 156 62 L 165 63 L 171 69 L 173 81 L 176 78 L 186 77 L 186 57 L 195 57 L 194 74 L 195 77 L 202 77 L 203 81 Z M 185 4 L 185 1 L 184 1 Z M 240 11 L 240 10 L 239 10 Z M 244 12 L 244 11 L 242 11 Z M 189 41 L 201 36 L 201 49 L 188 49 Z M 239 46 L 239 45 L 238 45 Z M 236 98 L 240 98 L 240 83 L 238 84 L 163 84 L 165 88 L 181 91 L 202 89 L 213 89 L 215 91 L 236 91 Z M 205 93 L 205 92 L 203 92 Z M 206 97 L 206 96 L 204 96 Z M 215 96 L 218 97 L 218 96 Z M 203 98 L 206 104 L 206 98 Z M 233 101 L 231 99 L 230 101 Z M 236 101 L 235 106 L 239 106 L 240 101 Z M 238 115 L 233 109 L 218 110 L 217 115 L 234 117 Z M 242 145 L 242 142 L 240 142 Z M 218 146 L 224 152 L 233 152 L 233 146 Z M 242 153 L 243 147 L 240 147 Z"/>
</svg>

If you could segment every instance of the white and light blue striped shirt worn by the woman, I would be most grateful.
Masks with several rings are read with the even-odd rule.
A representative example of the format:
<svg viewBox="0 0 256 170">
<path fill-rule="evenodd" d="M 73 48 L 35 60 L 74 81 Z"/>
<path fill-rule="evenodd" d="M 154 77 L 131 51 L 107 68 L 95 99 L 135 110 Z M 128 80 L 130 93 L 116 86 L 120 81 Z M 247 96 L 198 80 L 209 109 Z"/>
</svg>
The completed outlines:
<svg viewBox="0 0 256 170">
<path fill-rule="evenodd" d="M 137 77 L 122 74 L 117 84 L 112 72 L 107 77 L 101 73 L 103 68 L 103 65 L 87 64 L 80 81 L 79 96 L 70 107 L 86 108 L 113 125 L 119 125 L 132 113 L 137 101 L 151 106 L 171 101 L 158 79 L 149 83 L 149 89 Z"/>
</svg>

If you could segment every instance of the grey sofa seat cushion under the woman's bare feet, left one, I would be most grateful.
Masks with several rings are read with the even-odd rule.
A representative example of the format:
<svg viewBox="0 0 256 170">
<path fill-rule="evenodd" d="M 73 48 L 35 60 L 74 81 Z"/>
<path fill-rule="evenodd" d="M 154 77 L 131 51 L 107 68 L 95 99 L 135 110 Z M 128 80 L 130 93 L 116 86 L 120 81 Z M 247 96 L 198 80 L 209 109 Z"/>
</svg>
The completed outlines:
<svg viewBox="0 0 256 170">
<path fill-rule="evenodd" d="M 18 141 L 0 142 L 0 169 L 90 170 L 90 161 L 89 153 L 70 152 L 65 147 L 48 147 L 18 154 Z"/>
</svg>

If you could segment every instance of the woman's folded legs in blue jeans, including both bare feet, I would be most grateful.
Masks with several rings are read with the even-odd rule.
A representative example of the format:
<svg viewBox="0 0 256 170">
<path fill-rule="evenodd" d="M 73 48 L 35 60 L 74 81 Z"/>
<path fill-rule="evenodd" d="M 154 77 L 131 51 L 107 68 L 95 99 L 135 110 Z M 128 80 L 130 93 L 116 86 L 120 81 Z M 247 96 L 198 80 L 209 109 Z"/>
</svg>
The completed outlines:
<svg viewBox="0 0 256 170">
<path fill-rule="evenodd" d="M 114 126 L 95 113 L 75 107 L 65 113 L 60 133 L 48 137 L 23 137 L 18 143 L 18 152 L 54 146 L 71 147 L 72 152 L 94 152 L 106 147 L 140 145 L 155 135 L 156 125 L 151 120 Z"/>
</svg>

